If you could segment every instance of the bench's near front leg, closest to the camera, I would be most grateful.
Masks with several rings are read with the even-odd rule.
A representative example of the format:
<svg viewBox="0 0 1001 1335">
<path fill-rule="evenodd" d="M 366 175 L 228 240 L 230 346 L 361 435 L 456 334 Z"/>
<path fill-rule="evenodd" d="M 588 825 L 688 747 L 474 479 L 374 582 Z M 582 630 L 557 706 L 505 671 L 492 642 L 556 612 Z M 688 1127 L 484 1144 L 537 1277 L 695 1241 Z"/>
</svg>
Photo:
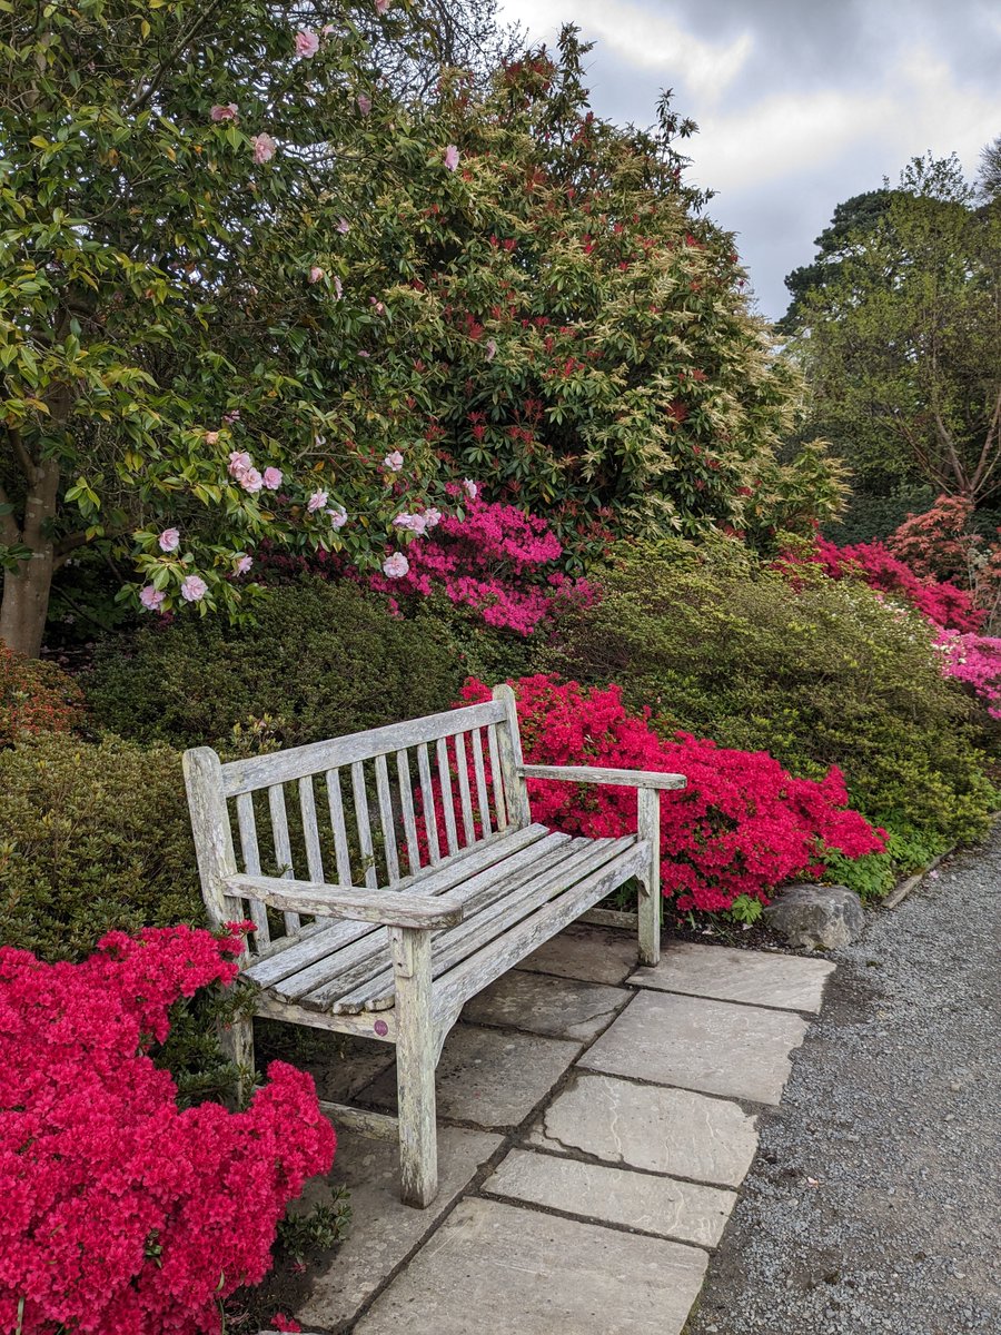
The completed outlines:
<svg viewBox="0 0 1001 1335">
<path fill-rule="evenodd" d="M 396 981 L 400 1196 L 404 1204 L 423 1210 L 438 1195 L 431 933 L 390 928 L 390 944 Z"/>
</svg>

